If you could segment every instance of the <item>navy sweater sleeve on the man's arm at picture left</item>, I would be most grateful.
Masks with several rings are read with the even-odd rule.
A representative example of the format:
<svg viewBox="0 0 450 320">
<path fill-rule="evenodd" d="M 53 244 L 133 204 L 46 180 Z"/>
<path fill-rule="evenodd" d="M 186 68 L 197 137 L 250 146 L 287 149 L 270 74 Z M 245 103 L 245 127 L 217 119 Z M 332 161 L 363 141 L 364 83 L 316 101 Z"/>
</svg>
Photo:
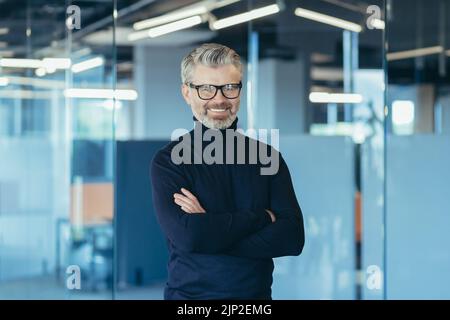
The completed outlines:
<svg viewBox="0 0 450 320">
<path fill-rule="evenodd" d="M 180 166 L 159 152 L 151 164 L 153 204 L 157 219 L 169 241 L 179 250 L 213 254 L 271 223 L 264 208 L 236 212 L 185 213 L 174 203 L 173 194 L 190 190 Z M 190 190 L 191 191 L 191 190 Z"/>
</svg>

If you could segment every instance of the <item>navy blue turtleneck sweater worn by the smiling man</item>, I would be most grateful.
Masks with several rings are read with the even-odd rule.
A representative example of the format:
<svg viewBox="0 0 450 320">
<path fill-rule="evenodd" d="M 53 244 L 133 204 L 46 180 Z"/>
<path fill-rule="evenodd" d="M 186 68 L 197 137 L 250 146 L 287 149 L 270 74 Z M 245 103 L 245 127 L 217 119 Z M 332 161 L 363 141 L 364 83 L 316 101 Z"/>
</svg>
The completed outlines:
<svg viewBox="0 0 450 320">
<path fill-rule="evenodd" d="M 195 126 L 202 134 L 207 130 L 199 121 Z M 229 129 L 236 126 L 237 119 Z M 182 139 L 190 138 L 184 141 L 192 160 L 211 143 L 196 149 L 194 131 L 158 151 L 151 164 L 153 203 L 169 248 L 164 298 L 271 299 L 272 258 L 299 255 L 304 244 L 302 212 L 286 163 L 278 153 L 274 175 L 261 175 L 267 163 L 249 163 L 248 156 L 245 164 L 175 164 L 171 153 Z M 225 130 L 219 131 L 225 145 Z M 248 155 L 251 139 L 244 137 Z M 256 145 L 259 150 L 263 143 Z M 174 203 L 182 187 L 206 213 L 185 213 Z M 265 209 L 275 214 L 274 223 Z"/>
</svg>

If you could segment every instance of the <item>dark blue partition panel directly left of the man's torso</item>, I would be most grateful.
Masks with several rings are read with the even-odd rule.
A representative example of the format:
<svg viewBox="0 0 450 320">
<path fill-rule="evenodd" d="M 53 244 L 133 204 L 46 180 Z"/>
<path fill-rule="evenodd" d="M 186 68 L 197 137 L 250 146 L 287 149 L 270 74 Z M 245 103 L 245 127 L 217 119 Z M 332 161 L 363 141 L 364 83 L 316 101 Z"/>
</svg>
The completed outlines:
<svg viewBox="0 0 450 320">
<path fill-rule="evenodd" d="M 165 281 L 167 245 L 152 204 L 150 163 L 168 141 L 117 142 L 116 236 L 119 286 Z"/>
</svg>

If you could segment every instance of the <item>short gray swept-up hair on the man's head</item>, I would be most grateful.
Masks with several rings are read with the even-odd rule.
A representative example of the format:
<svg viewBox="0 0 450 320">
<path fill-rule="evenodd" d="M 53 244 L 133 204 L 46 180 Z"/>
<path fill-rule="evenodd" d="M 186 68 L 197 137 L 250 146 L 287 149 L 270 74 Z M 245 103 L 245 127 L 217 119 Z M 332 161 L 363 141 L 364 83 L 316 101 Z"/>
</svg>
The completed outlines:
<svg viewBox="0 0 450 320">
<path fill-rule="evenodd" d="M 218 43 L 204 43 L 183 58 L 183 61 L 181 61 L 182 83 L 191 81 L 192 72 L 197 64 L 208 67 L 232 64 L 242 75 L 240 56 L 233 49 Z"/>
</svg>

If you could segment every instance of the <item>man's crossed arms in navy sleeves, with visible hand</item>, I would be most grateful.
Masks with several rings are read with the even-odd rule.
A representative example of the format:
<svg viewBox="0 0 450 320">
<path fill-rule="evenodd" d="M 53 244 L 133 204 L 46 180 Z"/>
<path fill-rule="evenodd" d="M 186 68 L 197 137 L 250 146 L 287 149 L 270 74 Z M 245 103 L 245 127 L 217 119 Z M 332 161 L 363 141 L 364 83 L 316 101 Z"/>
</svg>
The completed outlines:
<svg viewBox="0 0 450 320">
<path fill-rule="evenodd" d="M 184 175 L 158 154 L 152 162 L 153 202 L 168 239 L 180 250 L 248 258 L 299 255 L 304 244 L 301 209 L 289 170 L 280 167 L 270 185 L 271 208 L 210 212 L 189 190 Z"/>
</svg>

